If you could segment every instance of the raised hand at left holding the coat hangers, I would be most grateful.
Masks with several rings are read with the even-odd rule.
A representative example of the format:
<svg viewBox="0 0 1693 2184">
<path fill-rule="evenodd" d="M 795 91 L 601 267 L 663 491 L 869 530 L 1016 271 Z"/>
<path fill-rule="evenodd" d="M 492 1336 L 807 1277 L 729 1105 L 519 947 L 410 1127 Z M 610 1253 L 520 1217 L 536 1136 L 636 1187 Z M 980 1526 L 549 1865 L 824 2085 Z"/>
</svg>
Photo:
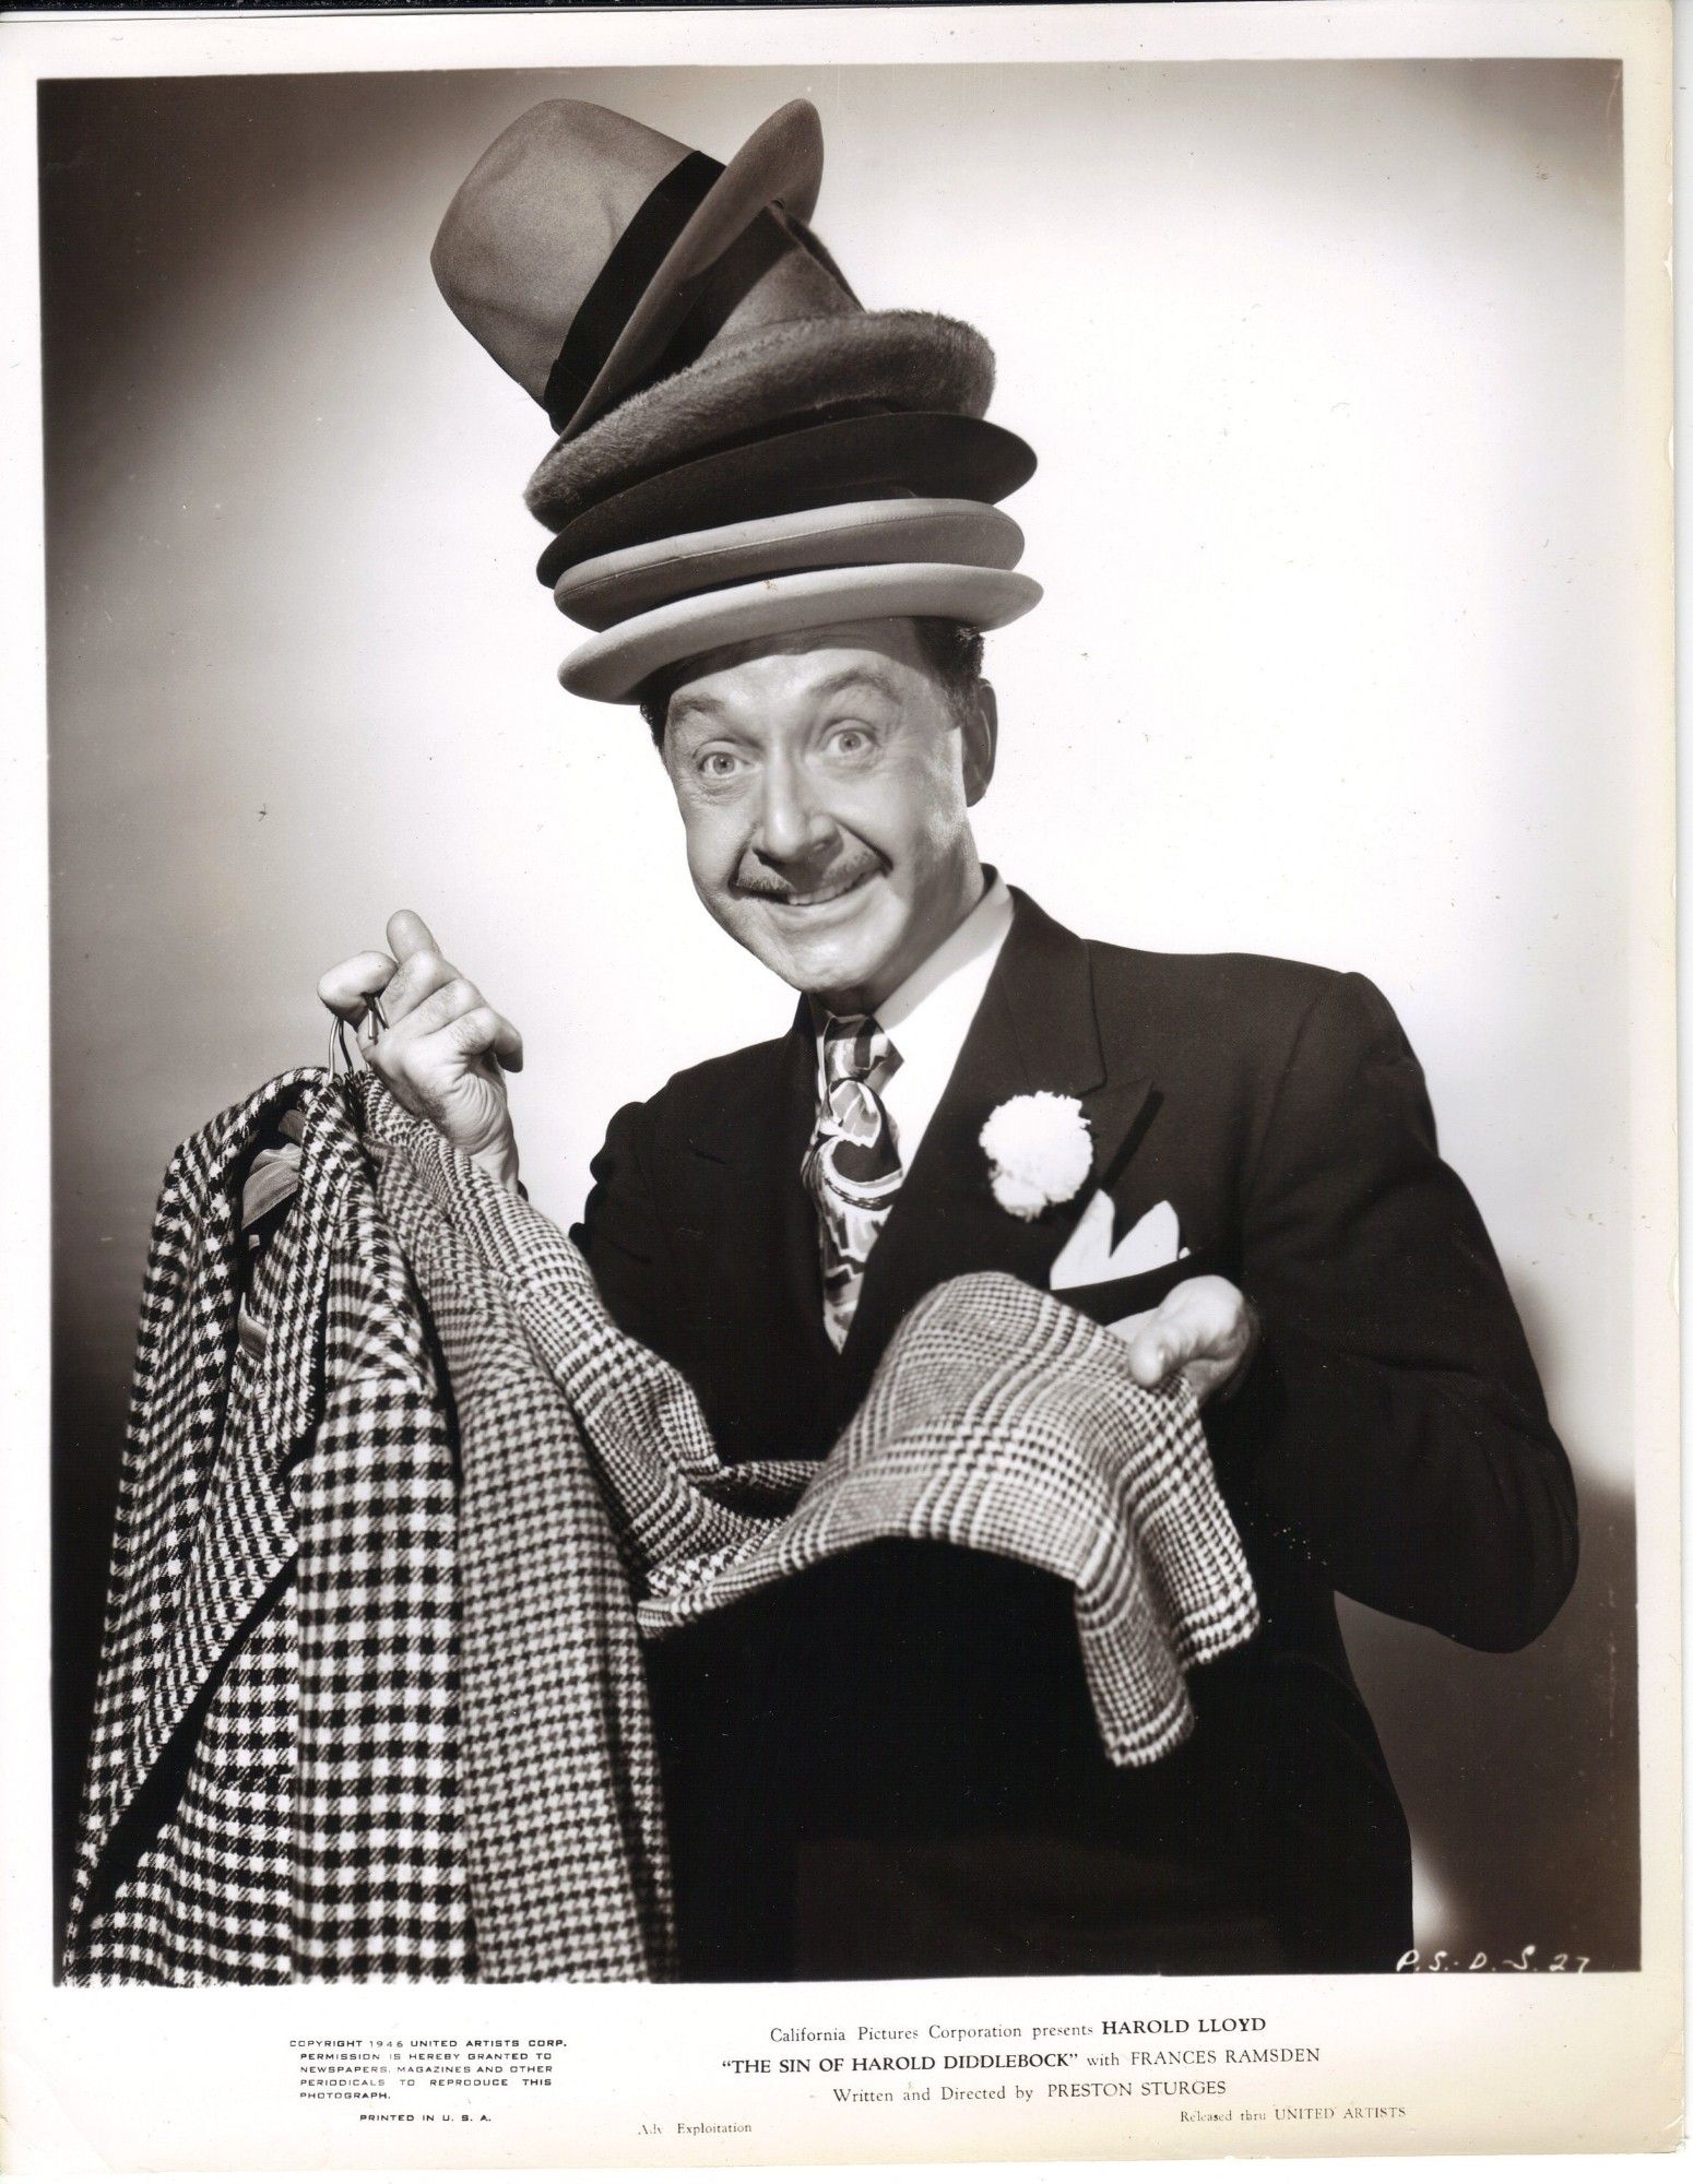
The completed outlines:
<svg viewBox="0 0 1693 2184">
<path fill-rule="evenodd" d="M 522 1037 L 481 992 L 441 959 L 435 935 L 415 911 L 389 919 L 391 954 L 371 948 L 347 957 L 317 981 L 317 998 L 350 1024 L 363 1022 L 371 998 L 376 1022 L 358 1051 L 402 1107 L 430 1120 L 502 1184 L 518 1182 L 518 1140 L 505 1096 L 505 1075 L 522 1068 Z"/>
</svg>

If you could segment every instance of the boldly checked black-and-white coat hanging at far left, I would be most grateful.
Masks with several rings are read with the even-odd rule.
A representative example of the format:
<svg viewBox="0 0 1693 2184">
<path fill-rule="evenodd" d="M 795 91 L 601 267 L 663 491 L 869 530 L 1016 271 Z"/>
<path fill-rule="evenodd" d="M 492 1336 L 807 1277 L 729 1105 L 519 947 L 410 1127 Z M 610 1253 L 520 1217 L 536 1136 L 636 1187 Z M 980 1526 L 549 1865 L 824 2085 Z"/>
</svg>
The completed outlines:
<svg viewBox="0 0 1693 2184">
<path fill-rule="evenodd" d="M 450 1413 L 339 1099 L 310 1105 L 301 1188 L 238 1339 L 240 1179 L 321 1081 L 264 1085 L 164 1177 L 66 1948 L 76 1981 L 474 1968 Z"/>
</svg>

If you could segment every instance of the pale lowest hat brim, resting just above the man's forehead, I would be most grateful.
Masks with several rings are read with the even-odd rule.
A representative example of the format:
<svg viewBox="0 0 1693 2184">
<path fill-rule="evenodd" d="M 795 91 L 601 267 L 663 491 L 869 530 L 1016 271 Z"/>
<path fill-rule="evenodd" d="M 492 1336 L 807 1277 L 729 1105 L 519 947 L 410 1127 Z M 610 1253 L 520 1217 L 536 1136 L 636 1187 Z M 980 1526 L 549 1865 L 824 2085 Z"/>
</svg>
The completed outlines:
<svg viewBox="0 0 1693 2184">
<path fill-rule="evenodd" d="M 939 616 L 970 629 L 1003 629 L 1040 601 L 1033 577 L 946 561 L 802 570 L 677 598 L 590 638 L 559 668 L 572 697 L 631 703 L 660 668 L 725 644 L 880 616 Z"/>
</svg>

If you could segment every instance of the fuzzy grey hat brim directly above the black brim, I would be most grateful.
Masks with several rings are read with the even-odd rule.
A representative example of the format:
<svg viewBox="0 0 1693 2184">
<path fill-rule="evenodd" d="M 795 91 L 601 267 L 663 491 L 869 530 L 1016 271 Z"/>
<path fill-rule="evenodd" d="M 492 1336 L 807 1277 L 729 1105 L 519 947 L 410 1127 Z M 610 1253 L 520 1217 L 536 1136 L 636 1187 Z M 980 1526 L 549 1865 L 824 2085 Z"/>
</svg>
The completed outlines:
<svg viewBox="0 0 1693 2184">
<path fill-rule="evenodd" d="M 686 371 L 629 395 L 585 432 L 561 435 L 524 500 L 559 531 L 596 500 L 668 463 L 839 404 L 955 411 L 981 417 L 994 393 L 994 352 L 959 319 L 931 310 L 869 310 L 789 319 L 712 347 Z"/>
</svg>

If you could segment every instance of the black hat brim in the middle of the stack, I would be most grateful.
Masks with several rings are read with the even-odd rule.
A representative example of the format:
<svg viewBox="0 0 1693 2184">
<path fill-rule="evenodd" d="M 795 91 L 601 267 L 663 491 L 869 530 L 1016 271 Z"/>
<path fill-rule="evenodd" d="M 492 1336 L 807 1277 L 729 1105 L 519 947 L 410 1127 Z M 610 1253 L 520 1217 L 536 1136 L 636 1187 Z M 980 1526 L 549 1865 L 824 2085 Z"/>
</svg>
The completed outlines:
<svg viewBox="0 0 1693 2184">
<path fill-rule="evenodd" d="M 996 502 L 1033 474 L 1033 448 L 985 417 L 830 417 L 719 448 L 596 500 L 546 546 L 535 574 L 550 590 L 566 568 L 625 546 L 848 500 Z"/>
</svg>

